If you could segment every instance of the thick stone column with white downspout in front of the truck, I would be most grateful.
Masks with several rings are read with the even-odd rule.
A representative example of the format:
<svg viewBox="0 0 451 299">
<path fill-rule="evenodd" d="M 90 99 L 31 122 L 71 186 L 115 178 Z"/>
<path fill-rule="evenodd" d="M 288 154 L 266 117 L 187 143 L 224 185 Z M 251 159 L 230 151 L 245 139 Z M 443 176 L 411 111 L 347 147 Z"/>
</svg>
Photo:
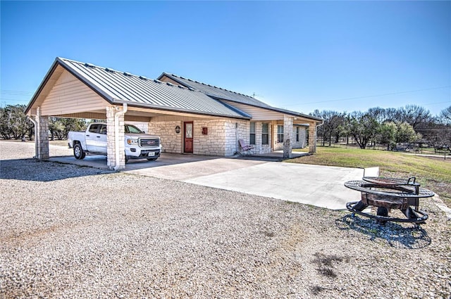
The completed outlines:
<svg viewBox="0 0 451 299">
<path fill-rule="evenodd" d="M 118 116 L 118 144 L 116 144 L 116 107 L 106 107 L 106 165 L 110 170 L 125 169 L 125 136 L 124 136 L 124 116 Z M 119 155 L 116 157 L 116 146 L 119 148 Z"/>
</svg>

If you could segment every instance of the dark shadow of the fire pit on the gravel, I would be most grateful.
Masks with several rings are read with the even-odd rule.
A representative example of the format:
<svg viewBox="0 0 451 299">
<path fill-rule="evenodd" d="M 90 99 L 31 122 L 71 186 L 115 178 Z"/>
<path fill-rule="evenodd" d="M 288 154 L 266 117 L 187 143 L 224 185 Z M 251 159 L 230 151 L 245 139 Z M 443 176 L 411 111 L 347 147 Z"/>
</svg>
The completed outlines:
<svg viewBox="0 0 451 299">
<path fill-rule="evenodd" d="M 345 215 L 335 220 L 338 229 L 352 229 L 370 236 L 370 240 L 377 238 L 387 241 L 395 248 L 419 249 L 431 244 L 431 237 L 426 230 L 415 224 L 398 224 L 387 222 L 385 225 L 376 224 L 376 220 L 363 219 L 358 216 Z"/>
</svg>

